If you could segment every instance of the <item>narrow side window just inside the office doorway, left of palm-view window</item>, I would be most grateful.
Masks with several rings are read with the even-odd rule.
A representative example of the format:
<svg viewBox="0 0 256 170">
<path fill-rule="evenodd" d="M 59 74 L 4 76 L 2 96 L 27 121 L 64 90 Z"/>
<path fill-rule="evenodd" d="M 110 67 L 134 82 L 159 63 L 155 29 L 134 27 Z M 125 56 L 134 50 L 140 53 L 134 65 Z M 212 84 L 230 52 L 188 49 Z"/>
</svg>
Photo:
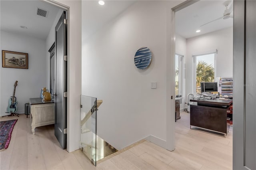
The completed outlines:
<svg viewBox="0 0 256 170">
<path fill-rule="evenodd" d="M 175 54 L 175 96 L 182 94 L 182 59 L 182 55 Z"/>
</svg>

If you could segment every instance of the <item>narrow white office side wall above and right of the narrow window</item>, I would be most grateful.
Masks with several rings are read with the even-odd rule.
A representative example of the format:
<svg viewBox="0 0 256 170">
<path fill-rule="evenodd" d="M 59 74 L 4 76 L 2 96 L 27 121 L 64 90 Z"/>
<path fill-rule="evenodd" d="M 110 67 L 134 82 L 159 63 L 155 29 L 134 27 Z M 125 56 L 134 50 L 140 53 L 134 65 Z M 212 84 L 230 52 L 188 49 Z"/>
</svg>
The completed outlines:
<svg viewBox="0 0 256 170">
<path fill-rule="evenodd" d="M 182 58 L 182 69 L 180 69 L 180 75 L 182 75 L 182 80 L 181 80 L 181 84 L 182 84 L 182 103 L 180 104 L 180 110 L 183 110 L 186 106 L 185 106 L 185 99 L 186 99 L 186 67 L 185 67 L 185 63 L 186 63 L 186 54 L 187 54 L 187 42 L 186 42 L 186 38 L 176 34 L 176 38 L 175 38 L 175 53 L 179 54 L 179 55 L 183 55 L 184 57 Z"/>
</svg>

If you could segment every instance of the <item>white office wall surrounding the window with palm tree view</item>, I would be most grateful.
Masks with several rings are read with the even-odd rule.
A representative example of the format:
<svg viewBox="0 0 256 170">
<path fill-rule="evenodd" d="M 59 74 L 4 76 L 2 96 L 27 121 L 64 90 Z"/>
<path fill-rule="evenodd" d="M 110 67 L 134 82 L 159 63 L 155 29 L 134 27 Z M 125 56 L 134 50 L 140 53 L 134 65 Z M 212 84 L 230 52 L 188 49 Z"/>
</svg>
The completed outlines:
<svg viewBox="0 0 256 170">
<path fill-rule="evenodd" d="M 193 93 L 192 55 L 214 52 L 218 49 L 216 58 L 216 77 L 233 76 L 233 28 L 226 28 L 202 36 L 187 39 L 186 57 L 186 92 Z"/>
</svg>

